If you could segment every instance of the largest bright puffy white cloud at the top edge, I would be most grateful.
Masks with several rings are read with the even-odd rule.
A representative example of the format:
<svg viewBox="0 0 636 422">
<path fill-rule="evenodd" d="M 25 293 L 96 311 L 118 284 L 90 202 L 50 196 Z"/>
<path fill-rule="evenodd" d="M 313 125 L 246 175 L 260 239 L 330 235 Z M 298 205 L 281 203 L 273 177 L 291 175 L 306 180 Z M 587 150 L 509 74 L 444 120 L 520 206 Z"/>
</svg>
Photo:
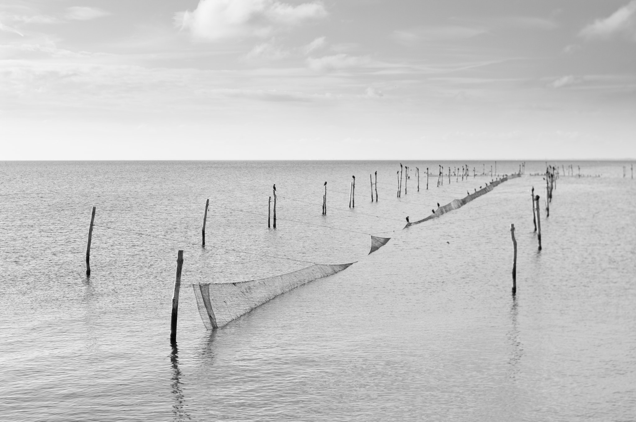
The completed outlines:
<svg viewBox="0 0 636 422">
<path fill-rule="evenodd" d="M 293 6 L 275 0 L 200 0 L 195 10 L 177 13 L 175 23 L 190 30 L 195 39 L 218 41 L 266 37 L 279 27 L 300 25 L 326 15 L 319 1 Z"/>
</svg>

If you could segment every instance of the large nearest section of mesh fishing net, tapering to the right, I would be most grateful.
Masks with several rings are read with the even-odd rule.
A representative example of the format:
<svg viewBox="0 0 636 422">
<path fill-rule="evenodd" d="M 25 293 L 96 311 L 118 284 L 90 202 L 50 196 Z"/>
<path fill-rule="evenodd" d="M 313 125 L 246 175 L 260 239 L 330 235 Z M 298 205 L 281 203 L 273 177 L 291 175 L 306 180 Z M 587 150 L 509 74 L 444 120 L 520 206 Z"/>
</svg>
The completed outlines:
<svg viewBox="0 0 636 422">
<path fill-rule="evenodd" d="M 197 306 L 205 328 L 225 326 L 233 319 L 312 280 L 328 277 L 349 268 L 347 264 L 315 264 L 301 270 L 266 279 L 236 283 L 193 284 Z"/>
</svg>

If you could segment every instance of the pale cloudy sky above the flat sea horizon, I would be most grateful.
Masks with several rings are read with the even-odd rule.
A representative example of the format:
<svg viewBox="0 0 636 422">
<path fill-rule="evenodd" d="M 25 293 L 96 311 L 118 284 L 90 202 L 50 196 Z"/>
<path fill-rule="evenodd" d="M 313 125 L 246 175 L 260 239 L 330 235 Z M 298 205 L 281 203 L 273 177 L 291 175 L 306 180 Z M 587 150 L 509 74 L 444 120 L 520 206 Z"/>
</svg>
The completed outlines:
<svg viewBox="0 0 636 422">
<path fill-rule="evenodd" d="M 0 159 L 636 157 L 636 0 L 3 0 Z"/>
</svg>

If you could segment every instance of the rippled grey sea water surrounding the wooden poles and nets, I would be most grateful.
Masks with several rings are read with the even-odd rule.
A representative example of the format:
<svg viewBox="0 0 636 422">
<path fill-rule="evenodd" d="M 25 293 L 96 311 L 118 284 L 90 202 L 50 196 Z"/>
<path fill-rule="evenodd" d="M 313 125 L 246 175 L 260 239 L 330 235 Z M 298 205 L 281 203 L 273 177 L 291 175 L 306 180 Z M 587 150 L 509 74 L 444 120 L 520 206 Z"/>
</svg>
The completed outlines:
<svg viewBox="0 0 636 422">
<path fill-rule="evenodd" d="M 398 199 L 397 162 L 0 163 L 2 419 L 634 420 L 630 163 L 558 162 L 573 164 L 576 175 L 581 166 L 582 177 L 557 181 L 550 218 L 541 215 L 541 253 L 530 188 L 543 196 L 544 181 L 529 174 L 544 162 L 528 162 L 522 178 L 401 230 L 406 216 L 423 218 L 437 202 L 490 181 L 494 166 L 404 164 L 411 177 Z M 427 190 L 425 169 L 436 172 L 438 164 L 469 164 L 478 176 L 446 178 L 439 188 L 432 176 Z M 497 173 L 518 165 L 497 162 Z M 372 203 L 374 171 L 380 201 Z M 352 175 L 355 209 L 348 206 Z M 266 225 L 272 183 L 276 230 Z M 510 223 L 518 241 L 516 298 Z M 366 256 L 369 234 L 392 240 Z M 256 254 L 357 263 L 214 332 L 205 331 L 183 287 L 173 349 L 178 249 L 184 284 L 309 265 Z"/>
</svg>

